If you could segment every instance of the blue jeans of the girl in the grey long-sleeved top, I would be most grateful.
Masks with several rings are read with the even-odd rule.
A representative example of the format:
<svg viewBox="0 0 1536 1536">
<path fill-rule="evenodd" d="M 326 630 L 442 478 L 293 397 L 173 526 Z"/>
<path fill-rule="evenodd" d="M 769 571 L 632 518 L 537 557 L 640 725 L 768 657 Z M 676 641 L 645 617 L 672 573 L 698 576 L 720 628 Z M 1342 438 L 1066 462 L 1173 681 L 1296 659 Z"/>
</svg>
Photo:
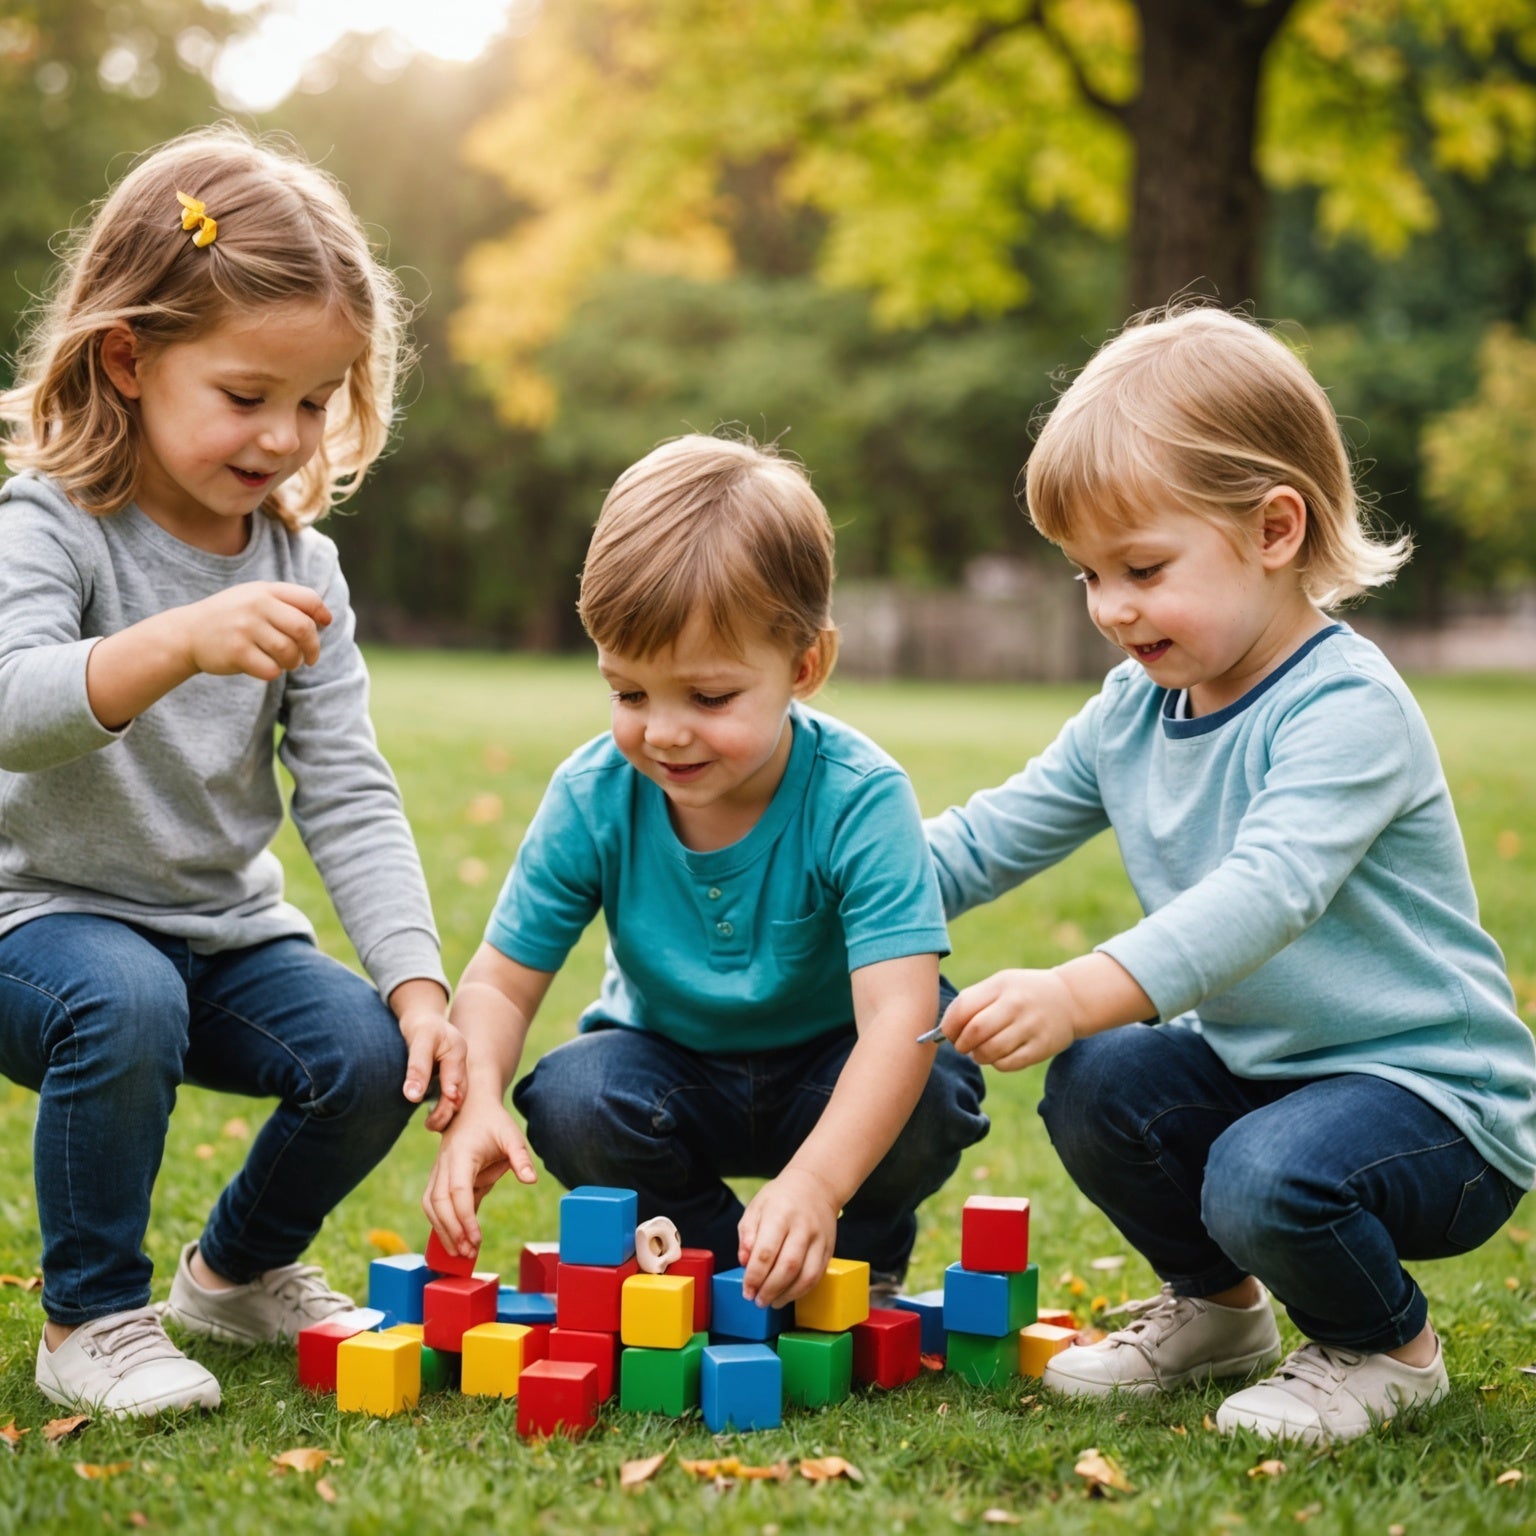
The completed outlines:
<svg viewBox="0 0 1536 1536">
<path fill-rule="evenodd" d="M 66 1326 L 149 1301 L 149 1197 L 183 1081 L 278 1100 L 200 1238 L 237 1283 L 292 1264 L 413 1109 L 393 1014 L 307 940 L 200 955 L 104 917 L 0 937 L 0 1072 L 38 1095 L 43 1310 Z"/>
</svg>

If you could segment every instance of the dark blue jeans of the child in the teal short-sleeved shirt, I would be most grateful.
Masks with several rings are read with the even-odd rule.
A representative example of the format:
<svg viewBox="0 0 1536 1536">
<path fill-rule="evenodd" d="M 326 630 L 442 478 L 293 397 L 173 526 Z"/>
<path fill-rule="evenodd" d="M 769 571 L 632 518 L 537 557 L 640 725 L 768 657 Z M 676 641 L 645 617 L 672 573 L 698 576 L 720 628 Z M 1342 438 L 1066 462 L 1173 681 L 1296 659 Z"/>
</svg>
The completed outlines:
<svg viewBox="0 0 1536 1536">
<path fill-rule="evenodd" d="M 684 1246 L 736 1267 L 742 1203 L 727 1178 L 773 1178 L 831 1098 L 852 1028 L 782 1051 L 702 1055 L 641 1029 L 599 1028 L 547 1052 L 513 1089 L 528 1140 L 567 1189 L 616 1184 L 671 1217 Z M 912 1046 L 915 1051 L 917 1048 Z M 837 1223 L 839 1258 L 900 1279 L 917 1207 L 986 1135 L 982 1071 L 942 1044 L 895 1144 Z"/>
</svg>

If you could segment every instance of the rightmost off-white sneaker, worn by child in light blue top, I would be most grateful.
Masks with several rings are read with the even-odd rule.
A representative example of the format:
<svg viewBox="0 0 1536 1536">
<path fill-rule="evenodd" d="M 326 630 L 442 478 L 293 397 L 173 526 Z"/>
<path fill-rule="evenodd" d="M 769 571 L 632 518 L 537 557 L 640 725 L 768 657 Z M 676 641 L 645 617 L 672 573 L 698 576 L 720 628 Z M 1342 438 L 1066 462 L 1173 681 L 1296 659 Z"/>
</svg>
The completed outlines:
<svg viewBox="0 0 1536 1536">
<path fill-rule="evenodd" d="M 1362 1355 L 1332 1344 L 1303 1344 L 1273 1376 L 1227 1398 L 1217 1410 L 1217 1428 L 1321 1445 L 1355 1439 L 1404 1409 L 1439 1402 L 1447 1392 L 1438 1338 L 1428 1366 L 1405 1366 L 1390 1355 Z"/>
</svg>

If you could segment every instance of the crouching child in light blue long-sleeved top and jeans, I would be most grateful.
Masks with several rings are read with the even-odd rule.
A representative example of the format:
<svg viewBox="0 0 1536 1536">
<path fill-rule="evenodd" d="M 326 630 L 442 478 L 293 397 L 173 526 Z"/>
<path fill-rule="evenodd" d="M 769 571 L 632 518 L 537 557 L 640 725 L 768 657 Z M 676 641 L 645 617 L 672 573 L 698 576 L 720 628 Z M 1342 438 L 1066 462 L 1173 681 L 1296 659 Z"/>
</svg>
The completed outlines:
<svg viewBox="0 0 1536 1536">
<path fill-rule="evenodd" d="M 1327 613 L 1407 542 L 1362 525 L 1307 369 L 1215 309 L 1101 349 L 1028 501 L 1126 660 L 1046 753 L 928 825 L 945 908 L 1112 828 L 1146 915 L 968 988 L 943 1026 L 1001 1071 L 1051 1060 L 1063 1163 L 1164 1281 L 1046 1384 L 1243 1375 L 1279 1353 L 1269 1287 L 1307 1342 L 1218 1425 L 1349 1439 L 1447 1392 L 1401 1261 L 1476 1247 L 1536 1174 L 1536 1054 L 1428 727 Z"/>
</svg>

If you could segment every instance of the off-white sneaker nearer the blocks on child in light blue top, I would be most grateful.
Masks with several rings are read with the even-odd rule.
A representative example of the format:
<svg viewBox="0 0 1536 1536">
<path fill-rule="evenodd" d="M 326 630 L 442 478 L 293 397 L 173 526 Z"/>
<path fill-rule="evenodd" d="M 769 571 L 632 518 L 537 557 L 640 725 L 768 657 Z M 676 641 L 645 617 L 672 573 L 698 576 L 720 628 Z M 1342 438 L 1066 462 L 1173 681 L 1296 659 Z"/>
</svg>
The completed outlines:
<svg viewBox="0 0 1536 1536">
<path fill-rule="evenodd" d="M 1187 1381 L 1243 1376 L 1279 1358 L 1279 1329 L 1263 1287 L 1252 1307 L 1223 1307 L 1175 1296 L 1164 1286 L 1147 1301 L 1130 1303 L 1129 1310 L 1135 1316 L 1126 1327 L 1052 1356 L 1044 1385 L 1072 1395 L 1150 1396 Z"/>
</svg>

